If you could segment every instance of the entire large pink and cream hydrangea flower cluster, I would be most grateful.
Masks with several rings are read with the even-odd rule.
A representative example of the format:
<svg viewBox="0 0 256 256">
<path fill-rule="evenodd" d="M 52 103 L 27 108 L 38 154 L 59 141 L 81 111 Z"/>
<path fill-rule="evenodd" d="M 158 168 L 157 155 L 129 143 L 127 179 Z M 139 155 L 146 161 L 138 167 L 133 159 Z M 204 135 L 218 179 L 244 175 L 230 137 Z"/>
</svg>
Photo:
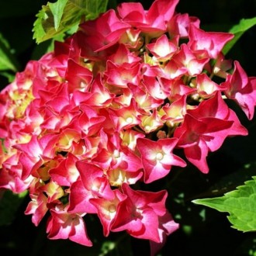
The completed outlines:
<svg viewBox="0 0 256 256">
<path fill-rule="evenodd" d="M 2 90 L 0 188 L 29 190 L 25 213 L 36 226 L 48 213 L 50 239 L 92 246 L 83 217 L 96 214 L 105 236 L 126 230 L 154 254 L 178 223 L 166 190 L 135 188 L 184 168 L 174 150 L 207 173 L 209 152 L 247 135 L 226 102 L 253 118 L 256 78 L 222 54 L 234 35 L 200 29 L 177 4 L 120 4 Z"/>
</svg>

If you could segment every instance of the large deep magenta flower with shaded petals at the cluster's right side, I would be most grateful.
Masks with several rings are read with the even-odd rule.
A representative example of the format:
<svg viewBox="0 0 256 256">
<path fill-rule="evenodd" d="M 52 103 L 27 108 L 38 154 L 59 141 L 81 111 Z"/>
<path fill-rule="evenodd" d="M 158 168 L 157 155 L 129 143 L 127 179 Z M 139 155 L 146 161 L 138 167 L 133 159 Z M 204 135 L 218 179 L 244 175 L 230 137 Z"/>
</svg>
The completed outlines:
<svg viewBox="0 0 256 256">
<path fill-rule="evenodd" d="M 246 128 L 223 101 L 220 92 L 187 112 L 174 136 L 179 138 L 178 147 L 184 148 L 187 159 L 203 173 L 209 171 L 206 163 L 209 151 L 218 150 L 229 136 L 247 135 Z"/>
</svg>

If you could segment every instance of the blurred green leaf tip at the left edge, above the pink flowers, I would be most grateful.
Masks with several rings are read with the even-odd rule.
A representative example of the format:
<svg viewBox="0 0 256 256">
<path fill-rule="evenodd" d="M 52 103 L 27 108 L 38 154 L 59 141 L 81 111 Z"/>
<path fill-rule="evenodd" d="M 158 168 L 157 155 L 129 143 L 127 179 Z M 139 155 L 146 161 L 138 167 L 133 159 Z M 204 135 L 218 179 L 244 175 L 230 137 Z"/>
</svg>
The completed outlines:
<svg viewBox="0 0 256 256">
<path fill-rule="evenodd" d="M 11 53 L 9 43 L 0 33 L 0 71 L 11 70 L 16 72 L 18 64 L 15 57 Z"/>
</svg>

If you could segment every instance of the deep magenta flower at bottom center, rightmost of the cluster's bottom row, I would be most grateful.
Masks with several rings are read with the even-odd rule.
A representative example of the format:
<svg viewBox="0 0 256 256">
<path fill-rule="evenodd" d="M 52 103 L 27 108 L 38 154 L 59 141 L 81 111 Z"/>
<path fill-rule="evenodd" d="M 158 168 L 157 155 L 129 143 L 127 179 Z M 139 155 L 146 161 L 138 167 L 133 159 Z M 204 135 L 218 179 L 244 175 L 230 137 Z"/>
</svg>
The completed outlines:
<svg viewBox="0 0 256 256">
<path fill-rule="evenodd" d="M 135 191 L 125 183 L 123 184 L 123 193 L 126 199 L 119 202 L 116 219 L 112 223 L 112 231 L 126 230 L 133 237 L 149 239 L 155 243 L 162 244 L 164 237 L 160 236 L 162 231 L 168 233 L 171 229 L 164 230 L 163 223 L 171 223 L 171 215 L 168 218 L 162 218 L 167 211 L 164 207 L 167 197 L 166 191 L 145 192 Z M 122 217 L 119 217 L 122 216 Z M 176 230 L 177 224 L 172 223 Z"/>
</svg>

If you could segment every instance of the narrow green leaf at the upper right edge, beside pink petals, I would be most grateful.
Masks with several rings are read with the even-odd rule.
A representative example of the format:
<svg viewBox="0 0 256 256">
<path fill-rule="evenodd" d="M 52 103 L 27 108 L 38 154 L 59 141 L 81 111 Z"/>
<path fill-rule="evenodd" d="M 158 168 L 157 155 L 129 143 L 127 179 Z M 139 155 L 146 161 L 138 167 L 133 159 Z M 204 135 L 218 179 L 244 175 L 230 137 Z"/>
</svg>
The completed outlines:
<svg viewBox="0 0 256 256">
<path fill-rule="evenodd" d="M 237 43 L 237 40 L 240 39 L 240 36 L 242 36 L 248 29 L 251 29 L 254 25 L 256 25 L 256 17 L 251 19 L 241 19 L 239 24 L 233 26 L 229 32 L 234 33 L 234 38 L 223 48 L 223 54 L 227 54 L 234 44 Z"/>
</svg>

